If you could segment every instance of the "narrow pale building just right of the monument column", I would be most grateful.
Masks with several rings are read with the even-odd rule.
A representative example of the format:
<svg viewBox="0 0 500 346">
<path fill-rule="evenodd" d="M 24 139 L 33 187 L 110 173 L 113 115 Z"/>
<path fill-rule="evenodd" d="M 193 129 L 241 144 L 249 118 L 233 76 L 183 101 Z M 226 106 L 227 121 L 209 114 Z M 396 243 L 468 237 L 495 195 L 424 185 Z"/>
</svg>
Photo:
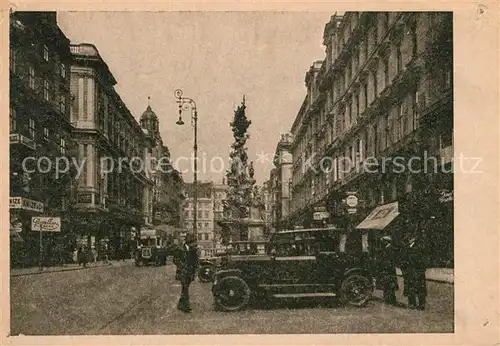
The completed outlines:
<svg viewBox="0 0 500 346">
<path fill-rule="evenodd" d="M 275 215 L 274 224 L 276 229 L 286 228 L 285 221 L 291 207 L 291 187 L 292 187 L 292 135 L 282 134 L 276 145 L 274 153 L 274 167 L 272 171 L 273 188 L 275 194 Z"/>
</svg>

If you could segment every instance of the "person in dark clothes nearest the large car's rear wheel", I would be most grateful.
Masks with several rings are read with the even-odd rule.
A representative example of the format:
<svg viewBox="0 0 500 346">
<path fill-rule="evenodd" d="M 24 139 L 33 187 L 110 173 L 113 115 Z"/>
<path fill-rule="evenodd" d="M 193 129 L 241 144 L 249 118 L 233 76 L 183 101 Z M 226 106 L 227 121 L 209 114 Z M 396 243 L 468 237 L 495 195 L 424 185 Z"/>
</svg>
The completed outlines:
<svg viewBox="0 0 500 346">
<path fill-rule="evenodd" d="M 383 290 L 384 301 L 396 305 L 396 291 L 399 290 L 392 239 L 383 237 L 382 248 L 377 256 L 378 287 Z"/>
</svg>

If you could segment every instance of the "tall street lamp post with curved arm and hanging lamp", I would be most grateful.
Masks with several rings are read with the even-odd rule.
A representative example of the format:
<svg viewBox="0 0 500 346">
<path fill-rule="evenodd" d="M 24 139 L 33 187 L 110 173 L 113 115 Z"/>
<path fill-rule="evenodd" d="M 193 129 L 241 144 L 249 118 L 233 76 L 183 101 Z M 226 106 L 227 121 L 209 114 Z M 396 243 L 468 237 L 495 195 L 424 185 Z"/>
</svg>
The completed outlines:
<svg viewBox="0 0 500 346">
<path fill-rule="evenodd" d="M 184 125 L 182 120 L 182 111 L 191 110 L 192 125 L 194 127 L 194 175 L 193 175 L 193 202 L 194 202 L 194 217 L 193 217 L 193 234 L 198 237 L 198 109 L 196 108 L 196 102 L 188 97 L 182 97 L 182 90 L 177 89 L 174 93 L 177 98 L 177 103 L 179 104 L 179 120 L 177 120 L 177 125 Z"/>
</svg>

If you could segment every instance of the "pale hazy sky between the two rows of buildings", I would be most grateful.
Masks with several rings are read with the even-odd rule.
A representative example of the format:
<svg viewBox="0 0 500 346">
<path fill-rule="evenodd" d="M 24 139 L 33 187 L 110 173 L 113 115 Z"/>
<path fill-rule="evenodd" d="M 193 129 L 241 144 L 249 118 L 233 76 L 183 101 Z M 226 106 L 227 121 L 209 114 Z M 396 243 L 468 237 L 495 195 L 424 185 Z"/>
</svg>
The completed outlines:
<svg viewBox="0 0 500 346">
<path fill-rule="evenodd" d="M 325 56 L 325 12 L 59 12 L 72 43 L 92 43 L 117 80 L 115 89 L 139 119 L 150 105 L 172 160 L 193 180 L 189 111 L 176 125 L 175 89 L 198 109 L 198 180 L 220 182 L 233 141 L 229 123 L 245 95 L 247 141 L 255 178 L 273 167 L 306 95 L 305 73 Z M 188 161 L 191 160 L 191 161 Z"/>
</svg>

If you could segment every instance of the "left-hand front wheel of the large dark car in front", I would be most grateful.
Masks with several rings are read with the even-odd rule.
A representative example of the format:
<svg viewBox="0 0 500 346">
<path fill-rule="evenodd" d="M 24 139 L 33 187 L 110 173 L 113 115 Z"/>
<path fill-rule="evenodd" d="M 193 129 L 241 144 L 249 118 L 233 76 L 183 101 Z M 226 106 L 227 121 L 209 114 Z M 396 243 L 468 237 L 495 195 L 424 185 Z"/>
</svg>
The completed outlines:
<svg viewBox="0 0 500 346">
<path fill-rule="evenodd" d="M 213 287 L 216 308 L 222 311 L 238 311 L 248 305 L 251 291 L 240 277 L 226 276 Z"/>
</svg>

